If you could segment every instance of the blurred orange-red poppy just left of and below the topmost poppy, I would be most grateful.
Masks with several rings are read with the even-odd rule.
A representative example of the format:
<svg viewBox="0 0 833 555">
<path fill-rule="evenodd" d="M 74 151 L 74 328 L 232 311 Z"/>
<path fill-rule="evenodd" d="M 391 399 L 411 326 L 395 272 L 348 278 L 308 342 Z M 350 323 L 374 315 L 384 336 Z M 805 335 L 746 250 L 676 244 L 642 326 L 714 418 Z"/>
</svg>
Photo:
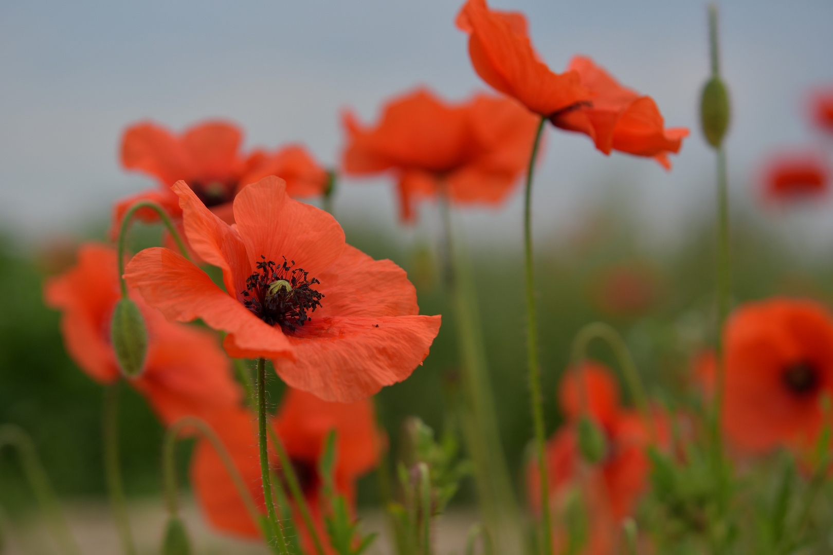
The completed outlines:
<svg viewBox="0 0 833 555">
<path fill-rule="evenodd" d="M 461 104 L 418 89 L 388 102 L 376 126 L 344 115 L 345 171 L 396 171 L 400 213 L 414 217 L 421 197 L 445 193 L 456 204 L 497 205 L 529 160 L 536 118 L 508 99 L 476 95 Z"/>
</svg>

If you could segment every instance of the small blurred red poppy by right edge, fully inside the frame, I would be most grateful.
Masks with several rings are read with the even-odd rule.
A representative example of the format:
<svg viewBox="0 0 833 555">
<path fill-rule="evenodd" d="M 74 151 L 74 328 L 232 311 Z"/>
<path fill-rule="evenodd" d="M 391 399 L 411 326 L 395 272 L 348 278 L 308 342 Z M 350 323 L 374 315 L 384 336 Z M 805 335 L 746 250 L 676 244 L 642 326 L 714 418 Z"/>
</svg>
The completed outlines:
<svg viewBox="0 0 833 555">
<path fill-rule="evenodd" d="M 764 194 L 771 201 L 795 201 L 825 195 L 830 169 L 820 156 L 794 153 L 777 156 L 766 166 Z"/>
</svg>

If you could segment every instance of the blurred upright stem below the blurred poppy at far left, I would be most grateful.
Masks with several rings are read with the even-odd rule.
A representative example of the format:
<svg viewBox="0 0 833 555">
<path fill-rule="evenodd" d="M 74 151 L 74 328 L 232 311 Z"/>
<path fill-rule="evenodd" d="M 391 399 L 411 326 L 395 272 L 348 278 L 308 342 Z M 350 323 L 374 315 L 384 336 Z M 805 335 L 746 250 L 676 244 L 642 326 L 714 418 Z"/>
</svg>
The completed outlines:
<svg viewBox="0 0 833 555">
<path fill-rule="evenodd" d="M 122 470 L 118 463 L 118 389 L 121 380 L 108 385 L 104 390 L 104 414 L 102 419 L 104 440 L 104 472 L 107 478 L 107 490 L 110 504 L 116 518 L 118 537 L 122 542 L 122 551 L 127 555 L 136 555 L 130 518 L 127 516 L 127 502 L 122 488 Z"/>
</svg>

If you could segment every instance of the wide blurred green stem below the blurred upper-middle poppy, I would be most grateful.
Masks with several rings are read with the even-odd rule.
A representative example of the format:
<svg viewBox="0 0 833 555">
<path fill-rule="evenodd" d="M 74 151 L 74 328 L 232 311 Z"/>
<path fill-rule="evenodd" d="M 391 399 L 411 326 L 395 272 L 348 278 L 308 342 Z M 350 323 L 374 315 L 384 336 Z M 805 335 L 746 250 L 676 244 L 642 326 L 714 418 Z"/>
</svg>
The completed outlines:
<svg viewBox="0 0 833 555">
<path fill-rule="evenodd" d="M 461 357 L 465 396 L 463 433 L 466 447 L 475 463 L 477 493 L 483 517 L 488 528 L 495 534 L 498 545 L 511 551 L 509 544 L 520 545 L 521 542 L 520 536 L 511 537 L 520 533 L 521 518 L 497 428 L 474 280 L 462 253 L 457 252 L 454 246 L 447 194 L 440 196 L 440 209 L 445 231 L 444 274 L 455 310 L 457 348 Z M 511 535 L 506 537 L 507 533 Z"/>
</svg>

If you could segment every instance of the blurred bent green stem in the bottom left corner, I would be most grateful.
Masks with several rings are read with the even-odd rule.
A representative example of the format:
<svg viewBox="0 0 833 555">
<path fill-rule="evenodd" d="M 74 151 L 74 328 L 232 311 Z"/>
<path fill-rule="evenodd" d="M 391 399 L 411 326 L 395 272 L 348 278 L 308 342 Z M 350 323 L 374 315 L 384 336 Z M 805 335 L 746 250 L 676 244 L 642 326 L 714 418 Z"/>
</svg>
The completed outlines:
<svg viewBox="0 0 833 555">
<path fill-rule="evenodd" d="M 47 518 L 55 543 L 67 555 L 81 555 L 81 548 L 78 548 L 75 538 L 72 537 L 67 520 L 61 512 L 61 506 L 58 504 L 55 492 L 52 490 L 52 484 L 49 483 L 49 476 L 44 470 L 40 458 L 37 457 L 37 450 L 32 444 L 32 439 L 19 426 L 3 424 L 0 426 L 0 449 L 6 446 L 17 449 L 17 456 L 20 457 L 23 473 L 35 493 L 37 504 L 40 505 Z"/>
</svg>

